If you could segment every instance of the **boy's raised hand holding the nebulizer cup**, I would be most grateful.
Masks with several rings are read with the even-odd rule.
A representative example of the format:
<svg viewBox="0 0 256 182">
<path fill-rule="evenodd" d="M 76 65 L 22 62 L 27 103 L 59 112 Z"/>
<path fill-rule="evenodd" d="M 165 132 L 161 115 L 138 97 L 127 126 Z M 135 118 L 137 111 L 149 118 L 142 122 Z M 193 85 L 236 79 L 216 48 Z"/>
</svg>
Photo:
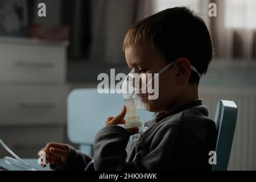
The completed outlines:
<svg viewBox="0 0 256 182">
<path fill-rule="evenodd" d="M 126 107 L 123 106 L 121 112 L 116 117 L 108 117 L 105 122 L 105 126 L 110 125 L 122 125 L 125 124 L 125 114 Z M 139 131 L 138 127 L 131 127 L 130 129 L 126 129 L 130 135 L 134 135 Z"/>
</svg>

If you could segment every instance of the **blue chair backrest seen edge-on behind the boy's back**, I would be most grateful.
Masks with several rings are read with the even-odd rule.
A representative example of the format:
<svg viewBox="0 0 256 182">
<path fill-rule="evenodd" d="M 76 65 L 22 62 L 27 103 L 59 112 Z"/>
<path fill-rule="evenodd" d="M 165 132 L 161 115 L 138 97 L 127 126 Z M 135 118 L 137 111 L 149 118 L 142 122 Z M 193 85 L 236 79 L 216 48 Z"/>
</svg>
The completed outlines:
<svg viewBox="0 0 256 182">
<path fill-rule="evenodd" d="M 237 105 L 233 101 L 218 102 L 214 121 L 217 129 L 216 159 L 213 171 L 228 169 L 230 151 L 237 122 Z"/>
</svg>

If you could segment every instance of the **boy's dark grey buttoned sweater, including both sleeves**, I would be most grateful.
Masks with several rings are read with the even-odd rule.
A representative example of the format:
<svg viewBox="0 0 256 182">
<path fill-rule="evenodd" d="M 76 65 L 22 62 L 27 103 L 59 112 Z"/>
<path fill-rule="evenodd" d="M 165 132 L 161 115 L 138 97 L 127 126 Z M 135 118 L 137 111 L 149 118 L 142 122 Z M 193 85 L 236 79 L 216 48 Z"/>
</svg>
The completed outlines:
<svg viewBox="0 0 256 182">
<path fill-rule="evenodd" d="M 207 107 L 201 100 L 195 100 L 146 122 L 135 146 L 129 142 L 126 129 L 108 126 L 96 134 L 93 159 L 68 146 L 67 163 L 51 167 L 56 170 L 210 170 L 208 154 L 215 150 L 216 135 Z"/>
</svg>

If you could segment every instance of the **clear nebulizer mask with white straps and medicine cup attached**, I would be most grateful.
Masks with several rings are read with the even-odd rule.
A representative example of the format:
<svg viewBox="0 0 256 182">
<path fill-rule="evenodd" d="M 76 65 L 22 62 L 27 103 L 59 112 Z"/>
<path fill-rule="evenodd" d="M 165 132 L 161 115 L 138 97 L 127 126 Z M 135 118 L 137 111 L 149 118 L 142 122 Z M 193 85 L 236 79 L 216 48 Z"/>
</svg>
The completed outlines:
<svg viewBox="0 0 256 182">
<path fill-rule="evenodd" d="M 138 127 L 138 133 L 141 133 L 142 122 L 137 115 L 136 109 L 148 110 L 148 90 L 152 88 L 152 82 L 154 81 L 154 89 L 158 87 L 155 82 L 158 83 L 158 77 L 161 73 L 166 71 L 174 62 L 166 65 L 158 73 L 154 73 L 154 77 L 147 76 L 145 73 L 136 73 L 133 69 L 125 78 L 122 84 L 122 94 L 126 105 L 126 118 L 125 128 Z M 199 77 L 201 74 L 191 65 L 191 69 L 197 73 Z M 148 73 L 150 74 L 150 73 Z M 148 81 L 147 81 L 148 80 Z M 158 89 L 157 89 L 158 90 Z M 138 141 L 138 133 L 133 135 L 133 140 L 136 143 Z"/>
</svg>

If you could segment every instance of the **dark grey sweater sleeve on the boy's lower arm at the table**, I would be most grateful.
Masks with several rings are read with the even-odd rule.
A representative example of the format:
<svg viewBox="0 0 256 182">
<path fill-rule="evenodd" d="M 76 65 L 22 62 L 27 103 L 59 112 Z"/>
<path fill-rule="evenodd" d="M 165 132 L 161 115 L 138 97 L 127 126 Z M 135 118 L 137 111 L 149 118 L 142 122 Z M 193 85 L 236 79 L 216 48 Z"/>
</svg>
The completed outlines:
<svg viewBox="0 0 256 182">
<path fill-rule="evenodd" d="M 83 171 L 92 158 L 90 156 L 82 154 L 80 151 L 77 151 L 75 148 L 68 146 L 68 159 L 65 164 L 62 166 L 53 166 L 50 165 L 51 169 L 56 171 L 72 170 L 72 171 Z"/>
</svg>

